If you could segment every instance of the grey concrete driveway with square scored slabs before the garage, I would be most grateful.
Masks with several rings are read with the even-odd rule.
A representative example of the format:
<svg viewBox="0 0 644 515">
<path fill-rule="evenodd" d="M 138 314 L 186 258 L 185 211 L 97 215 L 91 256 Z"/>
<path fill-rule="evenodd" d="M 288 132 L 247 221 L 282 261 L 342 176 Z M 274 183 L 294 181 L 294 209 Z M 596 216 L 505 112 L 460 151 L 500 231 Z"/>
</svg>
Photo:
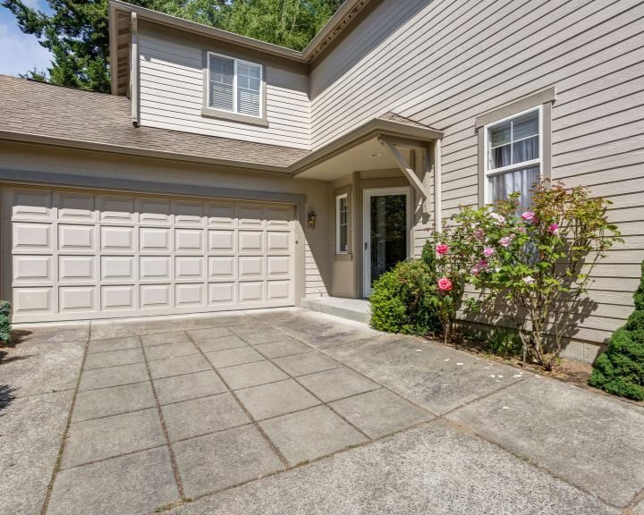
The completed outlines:
<svg viewBox="0 0 644 515">
<path fill-rule="evenodd" d="M 644 409 L 304 309 L 30 328 L 0 513 L 644 515 Z"/>
</svg>

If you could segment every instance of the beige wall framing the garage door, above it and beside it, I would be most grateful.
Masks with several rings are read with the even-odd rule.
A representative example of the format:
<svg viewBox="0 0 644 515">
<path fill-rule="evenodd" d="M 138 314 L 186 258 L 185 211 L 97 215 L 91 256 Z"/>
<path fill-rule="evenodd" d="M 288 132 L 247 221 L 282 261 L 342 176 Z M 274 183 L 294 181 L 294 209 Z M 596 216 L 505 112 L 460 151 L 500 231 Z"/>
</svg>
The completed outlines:
<svg viewBox="0 0 644 515">
<path fill-rule="evenodd" d="M 136 158 L 128 156 L 114 156 L 96 152 L 71 151 L 64 149 L 51 149 L 22 144 L 4 144 L 0 154 L 0 175 L 4 171 L 11 171 L 21 179 L 28 181 L 29 173 L 65 174 L 71 177 L 67 186 L 84 187 L 89 182 L 100 185 L 102 181 L 111 183 L 123 181 L 123 184 L 137 181 L 142 184 L 137 190 L 154 194 L 159 191 L 159 184 L 165 186 L 163 193 L 182 194 L 183 187 L 216 188 L 223 190 L 249 191 L 250 199 L 257 199 L 257 192 L 267 192 L 270 196 L 294 194 L 305 197 L 301 213 L 314 210 L 318 214 L 318 225 L 309 229 L 305 223 L 300 223 L 301 229 L 296 233 L 299 245 L 304 245 L 301 251 L 299 267 L 300 293 L 303 296 L 326 296 L 327 276 L 326 261 L 328 257 L 328 210 L 326 182 L 300 180 L 293 181 L 290 177 L 278 176 L 268 173 L 253 173 L 244 171 L 226 172 L 208 165 L 191 165 L 165 160 Z M 78 182 L 74 177 L 78 177 Z M 38 182 L 47 184 L 47 180 Z M 145 184 L 151 186 L 146 188 Z M 154 185 L 152 185 L 154 184 Z M 174 190 L 176 185 L 176 190 Z M 110 187 L 110 190 L 117 188 Z M 123 190 L 130 190 L 123 187 Z M 208 197 L 210 194 L 208 193 Z M 4 211 L 3 211 L 4 213 Z M 4 221 L 3 221 L 4 222 Z M 4 225 L 3 225 L 4 230 Z M 298 236 L 299 234 L 299 236 Z M 301 236 L 303 234 L 303 241 Z M 4 241 L 4 240 L 3 240 Z M 296 248 L 300 248 L 297 246 Z M 3 246 L 3 293 L 8 294 L 8 282 L 11 278 L 11 264 L 6 252 L 11 245 Z M 297 250 L 296 250 L 297 251 Z M 304 262 L 305 261 L 305 266 Z M 302 272 L 303 268 L 303 272 Z"/>
</svg>

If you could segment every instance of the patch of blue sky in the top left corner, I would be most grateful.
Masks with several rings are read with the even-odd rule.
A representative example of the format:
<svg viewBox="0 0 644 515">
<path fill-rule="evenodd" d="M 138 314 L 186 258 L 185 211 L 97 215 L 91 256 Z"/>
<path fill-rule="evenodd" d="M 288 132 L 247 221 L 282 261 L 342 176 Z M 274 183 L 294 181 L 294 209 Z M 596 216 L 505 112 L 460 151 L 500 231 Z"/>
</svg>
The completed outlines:
<svg viewBox="0 0 644 515">
<path fill-rule="evenodd" d="M 47 9 L 44 0 L 23 0 L 30 7 L 41 10 Z M 18 29 L 18 24 L 13 14 L 4 7 L 0 7 L 0 73 L 18 75 L 32 70 L 44 70 L 49 66 L 51 56 L 49 52 L 38 45 L 34 36 L 23 34 Z"/>
</svg>

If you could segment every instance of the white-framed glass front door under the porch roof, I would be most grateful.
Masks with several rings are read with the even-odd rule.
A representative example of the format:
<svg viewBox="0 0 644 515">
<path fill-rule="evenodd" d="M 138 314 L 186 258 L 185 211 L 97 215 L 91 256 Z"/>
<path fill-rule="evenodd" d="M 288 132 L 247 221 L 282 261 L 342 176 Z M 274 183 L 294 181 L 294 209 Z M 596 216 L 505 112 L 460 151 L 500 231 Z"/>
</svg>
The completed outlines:
<svg viewBox="0 0 644 515">
<path fill-rule="evenodd" d="M 374 281 L 410 255 L 410 190 L 365 190 L 363 207 L 364 295 L 369 297 Z"/>
</svg>

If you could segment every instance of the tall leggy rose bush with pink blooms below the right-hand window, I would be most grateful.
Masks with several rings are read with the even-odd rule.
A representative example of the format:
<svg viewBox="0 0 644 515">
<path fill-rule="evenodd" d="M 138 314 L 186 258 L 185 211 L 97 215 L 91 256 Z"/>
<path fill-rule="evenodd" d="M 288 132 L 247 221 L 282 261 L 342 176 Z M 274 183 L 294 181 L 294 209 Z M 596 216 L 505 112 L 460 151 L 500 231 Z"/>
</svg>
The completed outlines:
<svg viewBox="0 0 644 515">
<path fill-rule="evenodd" d="M 589 307 L 583 293 L 590 270 L 621 239 L 606 221 L 609 201 L 591 198 L 586 188 L 543 181 L 531 197 L 521 215 L 518 194 L 512 194 L 493 206 L 464 207 L 453 222 L 466 236 L 465 251 L 479 259 L 468 278 L 479 296 L 468 300 L 468 309 L 503 314 L 521 336 L 523 359 L 530 354 L 552 367 L 566 332 Z"/>
</svg>

